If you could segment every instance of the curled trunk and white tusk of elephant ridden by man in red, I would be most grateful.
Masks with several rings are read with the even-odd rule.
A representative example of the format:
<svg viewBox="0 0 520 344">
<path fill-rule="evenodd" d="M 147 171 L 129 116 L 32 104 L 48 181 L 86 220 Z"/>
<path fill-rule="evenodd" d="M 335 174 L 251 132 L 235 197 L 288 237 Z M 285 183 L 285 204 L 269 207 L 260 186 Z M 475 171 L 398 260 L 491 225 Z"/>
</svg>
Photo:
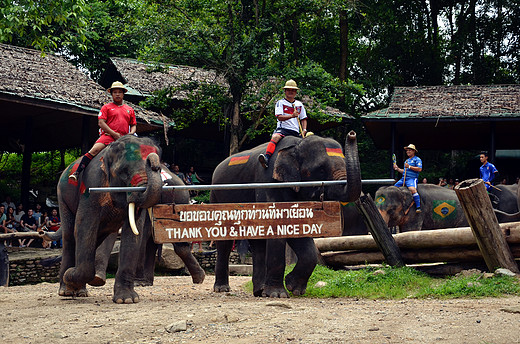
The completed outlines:
<svg viewBox="0 0 520 344">
<path fill-rule="evenodd" d="M 161 199 L 162 179 L 161 179 L 161 161 L 155 153 L 150 153 L 146 158 L 145 170 L 147 176 L 146 190 L 139 193 L 132 193 L 128 196 L 128 217 L 130 227 L 135 235 L 139 234 L 135 225 L 135 207 L 148 209 Z"/>
</svg>

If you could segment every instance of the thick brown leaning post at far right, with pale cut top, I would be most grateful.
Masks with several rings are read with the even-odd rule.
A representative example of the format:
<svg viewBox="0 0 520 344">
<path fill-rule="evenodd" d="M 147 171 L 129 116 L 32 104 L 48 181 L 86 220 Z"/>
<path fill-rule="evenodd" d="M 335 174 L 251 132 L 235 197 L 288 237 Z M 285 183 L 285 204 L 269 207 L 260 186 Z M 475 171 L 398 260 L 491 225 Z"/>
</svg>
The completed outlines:
<svg viewBox="0 0 520 344">
<path fill-rule="evenodd" d="M 491 200 L 482 179 L 468 179 L 455 187 L 466 219 L 475 235 L 489 271 L 506 268 L 520 273 L 506 239 L 493 212 Z"/>
</svg>

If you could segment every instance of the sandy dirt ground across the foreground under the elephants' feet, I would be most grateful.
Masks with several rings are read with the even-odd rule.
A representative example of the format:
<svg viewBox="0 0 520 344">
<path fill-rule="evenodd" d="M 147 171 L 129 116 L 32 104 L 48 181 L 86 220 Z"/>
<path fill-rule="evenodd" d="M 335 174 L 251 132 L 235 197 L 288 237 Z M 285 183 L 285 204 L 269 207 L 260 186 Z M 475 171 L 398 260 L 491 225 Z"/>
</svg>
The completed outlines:
<svg viewBox="0 0 520 344">
<path fill-rule="evenodd" d="M 520 343 L 520 297 L 479 300 L 265 299 L 157 277 L 141 302 L 112 302 L 113 279 L 90 297 L 58 284 L 0 287 L 1 343 Z M 174 323 L 186 330 L 169 332 Z M 171 329 L 170 329 L 171 330 Z"/>
</svg>

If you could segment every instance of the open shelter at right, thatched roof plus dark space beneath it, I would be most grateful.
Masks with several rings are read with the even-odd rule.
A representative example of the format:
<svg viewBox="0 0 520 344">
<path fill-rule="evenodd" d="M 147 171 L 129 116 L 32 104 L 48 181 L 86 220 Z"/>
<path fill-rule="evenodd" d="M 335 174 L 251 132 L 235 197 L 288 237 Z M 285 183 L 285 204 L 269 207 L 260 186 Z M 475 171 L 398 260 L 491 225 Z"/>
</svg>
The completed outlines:
<svg viewBox="0 0 520 344">
<path fill-rule="evenodd" d="M 361 118 L 379 148 L 518 149 L 520 85 L 396 87 Z"/>
</svg>

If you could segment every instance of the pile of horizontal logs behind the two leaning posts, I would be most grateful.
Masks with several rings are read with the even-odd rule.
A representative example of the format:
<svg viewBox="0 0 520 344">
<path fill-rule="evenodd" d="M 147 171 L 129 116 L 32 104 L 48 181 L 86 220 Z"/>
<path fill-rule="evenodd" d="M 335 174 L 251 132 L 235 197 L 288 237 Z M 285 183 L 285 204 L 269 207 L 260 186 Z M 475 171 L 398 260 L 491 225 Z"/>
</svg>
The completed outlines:
<svg viewBox="0 0 520 344">
<path fill-rule="evenodd" d="M 515 258 L 520 258 L 520 222 L 500 224 Z M 393 235 L 406 264 L 484 262 L 470 227 L 414 231 Z M 332 267 L 385 261 L 371 235 L 314 239 L 323 260 Z"/>
</svg>

